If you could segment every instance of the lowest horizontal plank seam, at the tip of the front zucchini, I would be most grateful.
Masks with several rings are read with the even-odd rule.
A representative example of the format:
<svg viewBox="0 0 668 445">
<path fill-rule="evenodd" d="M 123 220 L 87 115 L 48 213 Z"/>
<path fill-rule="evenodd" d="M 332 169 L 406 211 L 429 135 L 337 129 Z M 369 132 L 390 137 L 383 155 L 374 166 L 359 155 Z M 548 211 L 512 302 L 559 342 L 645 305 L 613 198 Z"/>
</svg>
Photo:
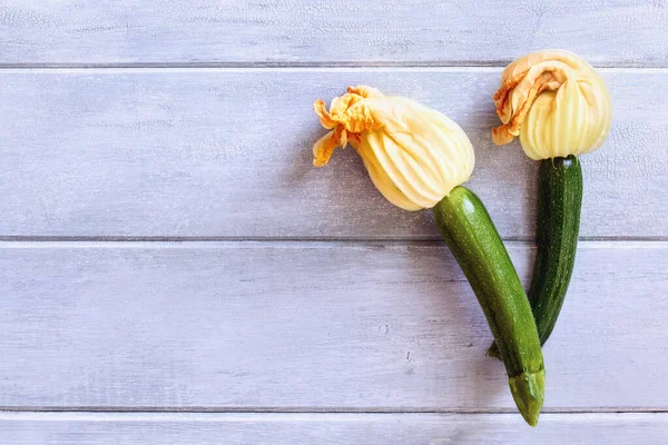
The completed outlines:
<svg viewBox="0 0 668 445">
<path fill-rule="evenodd" d="M 289 408 L 269 408 L 269 407 L 153 407 L 153 406 L 0 406 L 1 413 L 177 413 L 177 414 L 456 414 L 456 415 L 503 415 L 515 414 L 513 408 L 500 409 L 433 409 L 433 408 L 337 408 L 337 407 L 289 407 Z M 647 407 L 601 407 L 601 408 L 543 408 L 541 414 L 661 414 L 668 413 L 668 407 L 647 408 Z"/>
</svg>

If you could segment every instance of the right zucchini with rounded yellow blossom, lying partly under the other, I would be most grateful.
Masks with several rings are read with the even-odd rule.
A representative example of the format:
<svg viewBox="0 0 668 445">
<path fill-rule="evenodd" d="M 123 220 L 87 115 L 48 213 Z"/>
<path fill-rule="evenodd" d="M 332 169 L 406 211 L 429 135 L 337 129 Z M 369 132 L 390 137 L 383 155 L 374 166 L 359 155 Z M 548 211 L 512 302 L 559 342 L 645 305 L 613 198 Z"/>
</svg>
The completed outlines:
<svg viewBox="0 0 668 445">
<path fill-rule="evenodd" d="M 581 161 L 610 131 L 606 85 L 582 58 L 560 50 L 539 51 L 510 63 L 494 95 L 503 122 L 492 129 L 497 145 L 520 137 L 522 149 L 540 161 L 538 255 L 529 300 L 541 344 L 548 340 L 573 271 L 580 209 Z M 495 345 L 489 350 L 499 356 Z"/>
</svg>

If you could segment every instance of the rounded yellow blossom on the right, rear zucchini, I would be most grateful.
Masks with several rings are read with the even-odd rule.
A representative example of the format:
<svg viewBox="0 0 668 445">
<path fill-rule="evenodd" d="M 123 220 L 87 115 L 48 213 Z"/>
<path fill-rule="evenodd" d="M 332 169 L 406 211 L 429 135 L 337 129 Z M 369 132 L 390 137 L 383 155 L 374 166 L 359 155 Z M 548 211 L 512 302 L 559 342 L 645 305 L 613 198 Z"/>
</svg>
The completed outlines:
<svg viewBox="0 0 668 445">
<path fill-rule="evenodd" d="M 492 130 L 497 145 L 520 137 L 531 159 L 596 150 L 610 131 L 611 106 L 606 85 L 582 58 L 544 50 L 510 63 L 494 95 L 503 122 Z"/>
</svg>

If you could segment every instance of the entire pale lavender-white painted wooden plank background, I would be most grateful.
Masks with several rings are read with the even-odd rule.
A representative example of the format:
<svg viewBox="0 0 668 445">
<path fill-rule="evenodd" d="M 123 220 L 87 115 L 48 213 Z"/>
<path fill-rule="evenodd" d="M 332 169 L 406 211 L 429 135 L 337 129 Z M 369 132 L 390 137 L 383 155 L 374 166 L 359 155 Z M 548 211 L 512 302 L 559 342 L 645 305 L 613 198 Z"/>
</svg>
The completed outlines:
<svg viewBox="0 0 668 445">
<path fill-rule="evenodd" d="M 442 4 L 439 4 L 442 3 Z M 664 444 L 665 0 L 0 1 L 0 443 Z M 477 149 L 524 280 L 537 165 L 497 148 L 523 53 L 600 68 L 577 267 L 538 428 L 428 211 L 311 103 L 369 83 Z"/>
</svg>

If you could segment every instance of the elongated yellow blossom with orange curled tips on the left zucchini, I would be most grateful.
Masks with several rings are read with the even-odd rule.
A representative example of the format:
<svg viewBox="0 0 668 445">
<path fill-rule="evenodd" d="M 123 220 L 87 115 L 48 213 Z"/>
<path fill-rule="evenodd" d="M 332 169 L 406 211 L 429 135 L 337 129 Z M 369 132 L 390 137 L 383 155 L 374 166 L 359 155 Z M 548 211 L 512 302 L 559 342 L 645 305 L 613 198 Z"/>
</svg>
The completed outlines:
<svg viewBox="0 0 668 445">
<path fill-rule="evenodd" d="M 452 120 L 410 99 L 383 96 L 370 87 L 347 93 L 315 112 L 331 129 L 313 148 L 314 165 L 326 165 L 336 147 L 350 144 L 373 184 L 405 210 L 432 208 L 473 171 L 471 141 Z"/>
</svg>

